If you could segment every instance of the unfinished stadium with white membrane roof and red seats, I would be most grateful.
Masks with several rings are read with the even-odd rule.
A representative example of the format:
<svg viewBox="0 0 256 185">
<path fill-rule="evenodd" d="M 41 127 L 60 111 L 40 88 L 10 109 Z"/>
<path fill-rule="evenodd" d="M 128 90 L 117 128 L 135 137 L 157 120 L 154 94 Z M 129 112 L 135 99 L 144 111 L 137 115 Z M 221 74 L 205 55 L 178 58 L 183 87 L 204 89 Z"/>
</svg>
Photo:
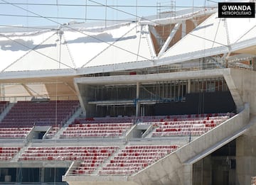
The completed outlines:
<svg viewBox="0 0 256 185">
<path fill-rule="evenodd" d="M 0 56 L 0 184 L 254 183 L 255 18 L 1 26 Z"/>
</svg>

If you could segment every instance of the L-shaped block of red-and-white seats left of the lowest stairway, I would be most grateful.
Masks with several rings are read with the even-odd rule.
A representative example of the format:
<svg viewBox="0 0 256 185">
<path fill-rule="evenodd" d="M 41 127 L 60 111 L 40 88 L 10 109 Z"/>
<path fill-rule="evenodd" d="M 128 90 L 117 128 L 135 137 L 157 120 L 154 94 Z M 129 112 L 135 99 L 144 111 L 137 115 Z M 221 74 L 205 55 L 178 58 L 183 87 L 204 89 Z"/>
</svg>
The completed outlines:
<svg viewBox="0 0 256 185">
<path fill-rule="evenodd" d="M 97 146 L 97 147 L 28 147 L 18 161 L 51 161 L 51 162 L 73 162 L 82 163 L 80 167 L 73 169 L 74 174 L 91 174 L 119 147 Z"/>
</svg>

